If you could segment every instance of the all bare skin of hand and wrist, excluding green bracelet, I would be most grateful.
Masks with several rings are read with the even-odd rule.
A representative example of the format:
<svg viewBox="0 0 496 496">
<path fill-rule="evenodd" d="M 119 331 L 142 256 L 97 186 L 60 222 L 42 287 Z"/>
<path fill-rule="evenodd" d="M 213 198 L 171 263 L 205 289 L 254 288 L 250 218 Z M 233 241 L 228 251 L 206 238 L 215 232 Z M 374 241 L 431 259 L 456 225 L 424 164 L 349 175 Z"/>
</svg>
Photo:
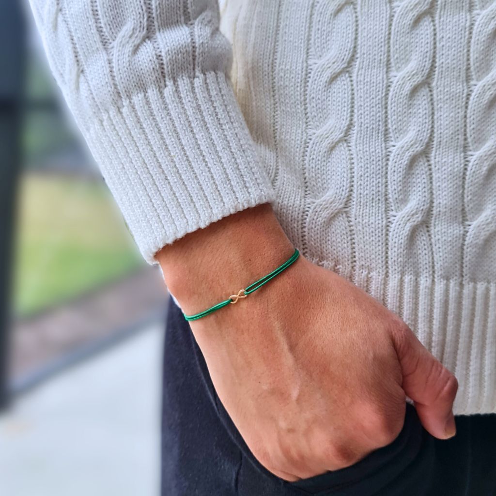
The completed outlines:
<svg viewBox="0 0 496 496">
<path fill-rule="evenodd" d="M 186 235 L 157 260 L 193 314 L 293 251 L 265 204 Z M 455 434 L 454 375 L 397 315 L 302 255 L 263 288 L 190 326 L 248 447 L 285 480 L 347 467 L 392 442 L 406 395 L 432 435 Z"/>
</svg>

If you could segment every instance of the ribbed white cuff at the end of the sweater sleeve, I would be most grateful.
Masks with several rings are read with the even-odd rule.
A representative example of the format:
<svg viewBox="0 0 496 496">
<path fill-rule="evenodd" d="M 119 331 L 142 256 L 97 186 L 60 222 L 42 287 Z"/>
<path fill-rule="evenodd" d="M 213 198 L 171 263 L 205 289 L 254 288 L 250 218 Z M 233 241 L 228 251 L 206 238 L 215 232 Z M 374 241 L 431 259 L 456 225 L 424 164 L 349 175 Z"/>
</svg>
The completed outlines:
<svg viewBox="0 0 496 496">
<path fill-rule="evenodd" d="M 222 72 L 151 87 L 90 116 L 88 146 L 143 257 L 274 190 Z"/>
</svg>

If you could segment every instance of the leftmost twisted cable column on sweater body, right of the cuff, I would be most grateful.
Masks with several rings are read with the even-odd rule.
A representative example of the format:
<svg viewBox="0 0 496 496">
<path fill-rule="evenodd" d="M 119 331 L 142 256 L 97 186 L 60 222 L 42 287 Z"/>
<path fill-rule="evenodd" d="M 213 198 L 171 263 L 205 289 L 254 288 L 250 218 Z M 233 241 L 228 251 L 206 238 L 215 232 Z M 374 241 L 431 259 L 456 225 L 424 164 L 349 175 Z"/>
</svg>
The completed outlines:
<svg viewBox="0 0 496 496">
<path fill-rule="evenodd" d="M 310 141 L 305 161 L 310 194 L 303 248 L 324 260 L 327 247 L 333 247 L 330 266 L 351 277 L 351 265 L 340 263 L 353 251 L 350 219 L 344 208 L 352 181 L 348 136 L 353 103 L 349 69 L 356 36 L 352 2 L 317 1 L 312 26 L 307 90 Z M 325 169 L 329 169 L 327 174 Z M 339 243 L 333 243 L 336 239 Z"/>
</svg>

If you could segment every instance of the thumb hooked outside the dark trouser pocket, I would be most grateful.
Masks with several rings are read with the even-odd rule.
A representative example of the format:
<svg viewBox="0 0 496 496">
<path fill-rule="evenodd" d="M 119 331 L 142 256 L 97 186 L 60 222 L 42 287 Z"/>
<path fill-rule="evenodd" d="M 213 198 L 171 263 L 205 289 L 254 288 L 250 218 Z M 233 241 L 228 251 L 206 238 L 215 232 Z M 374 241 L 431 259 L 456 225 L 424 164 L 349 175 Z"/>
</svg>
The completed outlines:
<svg viewBox="0 0 496 496">
<path fill-rule="evenodd" d="M 456 433 L 453 402 L 458 381 L 418 340 L 413 331 L 406 329 L 393 333 L 393 342 L 403 374 L 402 388 L 415 403 L 424 428 L 439 439 L 448 439 Z"/>
</svg>

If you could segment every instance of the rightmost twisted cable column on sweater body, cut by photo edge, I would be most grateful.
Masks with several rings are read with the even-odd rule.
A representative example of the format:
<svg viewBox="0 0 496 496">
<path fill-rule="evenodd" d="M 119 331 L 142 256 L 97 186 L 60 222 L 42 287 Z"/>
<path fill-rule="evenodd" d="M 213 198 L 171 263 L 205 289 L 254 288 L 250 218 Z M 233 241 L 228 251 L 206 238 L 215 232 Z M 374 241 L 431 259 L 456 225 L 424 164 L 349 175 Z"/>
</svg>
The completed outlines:
<svg viewBox="0 0 496 496">
<path fill-rule="evenodd" d="M 463 275 L 496 280 L 496 2 L 479 1 L 473 27 L 470 71 L 473 91 L 467 117 L 469 163 L 465 181 L 468 232 Z M 486 8 L 484 6 L 486 5 Z"/>
</svg>

